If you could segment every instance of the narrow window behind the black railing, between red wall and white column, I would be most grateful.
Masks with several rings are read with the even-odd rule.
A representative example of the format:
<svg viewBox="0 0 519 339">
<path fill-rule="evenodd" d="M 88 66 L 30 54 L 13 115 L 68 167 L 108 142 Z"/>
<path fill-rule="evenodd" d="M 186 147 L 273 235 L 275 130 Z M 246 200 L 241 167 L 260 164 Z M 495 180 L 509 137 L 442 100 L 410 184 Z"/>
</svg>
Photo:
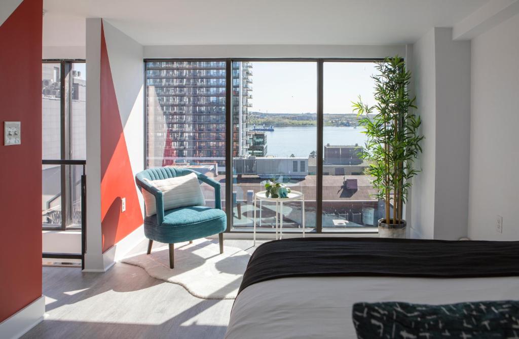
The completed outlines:
<svg viewBox="0 0 519 339">
<path fill-rule="evenodd" d="M 80 61 L 42 64 L 42 159 L 86 158 L 86 77 Z M 79 165 L 42 165 L 42 224 L 44 229 L 81 225 Z"/>
</svg>

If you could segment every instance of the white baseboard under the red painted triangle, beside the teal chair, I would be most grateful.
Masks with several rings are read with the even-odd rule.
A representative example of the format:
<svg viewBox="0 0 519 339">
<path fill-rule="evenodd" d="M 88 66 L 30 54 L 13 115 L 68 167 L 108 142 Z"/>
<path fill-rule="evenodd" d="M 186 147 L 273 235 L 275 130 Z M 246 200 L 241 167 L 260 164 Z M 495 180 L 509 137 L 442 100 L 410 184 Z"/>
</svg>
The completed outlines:
<svg viewBox="0 0 519 339">
<path fill-rule="evenodd" d="M 106 272 L 144 239 L 144 225 L 141 225 L 104 253 L 86 253 L 83 272 Z"/>
</svg>

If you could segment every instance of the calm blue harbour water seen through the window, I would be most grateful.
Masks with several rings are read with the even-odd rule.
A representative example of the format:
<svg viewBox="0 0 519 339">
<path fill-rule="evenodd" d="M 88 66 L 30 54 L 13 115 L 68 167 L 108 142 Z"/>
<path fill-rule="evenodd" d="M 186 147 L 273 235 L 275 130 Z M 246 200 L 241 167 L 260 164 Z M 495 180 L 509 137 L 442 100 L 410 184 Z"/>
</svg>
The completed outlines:
<svg viewBox="0 0 519 339">
<path fill-rule="evenodd" d="M 308 157 L 310 152 L 317 151 L 316 126 L 275 127 L 267 133 L 267 154 L 275 157 Z M 330 145 L 364 145 L 366 141 L 362 128 L 346 126 L 324 126 L 323 144 Z"/>
</svg>

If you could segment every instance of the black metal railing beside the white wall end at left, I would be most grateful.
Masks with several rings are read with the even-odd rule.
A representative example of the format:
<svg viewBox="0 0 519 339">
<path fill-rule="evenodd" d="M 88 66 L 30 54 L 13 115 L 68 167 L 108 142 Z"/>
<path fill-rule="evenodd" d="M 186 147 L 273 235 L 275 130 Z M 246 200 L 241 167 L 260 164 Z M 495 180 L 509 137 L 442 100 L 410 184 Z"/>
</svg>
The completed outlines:
<svg viewBox="0 0 519 339">
<path fill-rule="evenodd" d="M 85 252 L 87 247 L 87 175 L 85 173 L 86 160 L 42 160 L 42 165 L 81 165 L 83 174 L 81 175 L 81 253 L 49 253 L 43 252 L 42 257 L 47 259 L 80 259 L 81 269 L 85 269 Z M 77 200 L 73 205 L 78 205 Z M 76 206 L 77 207 L 77 206 Z M 74 211 L 75 210 L 75 211 Z M 77 208 L 73 209 L 73 218 L 77 217 Z"/>
</svg>

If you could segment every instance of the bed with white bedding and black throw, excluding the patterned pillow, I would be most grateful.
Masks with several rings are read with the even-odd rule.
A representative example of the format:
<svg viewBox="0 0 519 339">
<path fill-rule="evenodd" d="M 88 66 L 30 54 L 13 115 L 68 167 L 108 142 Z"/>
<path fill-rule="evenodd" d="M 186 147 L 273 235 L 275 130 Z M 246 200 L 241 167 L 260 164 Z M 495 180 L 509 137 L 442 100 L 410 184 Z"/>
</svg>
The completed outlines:
<svg viewBox="0 0 519 339">
<path fill-rule="evenodd" d="M 518 299 L 519 242 L 284 239 L 252 255 L 225 338 L 355 338 L 357 302 Z"/>
</svg>

